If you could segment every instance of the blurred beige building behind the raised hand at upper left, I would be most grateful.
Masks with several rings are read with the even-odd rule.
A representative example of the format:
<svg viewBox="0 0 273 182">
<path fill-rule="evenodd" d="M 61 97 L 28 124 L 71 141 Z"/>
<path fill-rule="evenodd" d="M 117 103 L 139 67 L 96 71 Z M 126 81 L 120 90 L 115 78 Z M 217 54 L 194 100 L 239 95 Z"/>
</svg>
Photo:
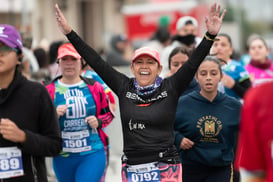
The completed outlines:
<svg viewBox="0 0 273 182">
<path fill-rule="evenodd" d="M 59 4 L 70 25 L 88 43 L 102 47 L 111 34 L 124 32 L 120 8 L 123 0 L 0 0 L 0 23 L 16 26 L 38 44 L 65 37 L 55 21 Z"/>
</svg>

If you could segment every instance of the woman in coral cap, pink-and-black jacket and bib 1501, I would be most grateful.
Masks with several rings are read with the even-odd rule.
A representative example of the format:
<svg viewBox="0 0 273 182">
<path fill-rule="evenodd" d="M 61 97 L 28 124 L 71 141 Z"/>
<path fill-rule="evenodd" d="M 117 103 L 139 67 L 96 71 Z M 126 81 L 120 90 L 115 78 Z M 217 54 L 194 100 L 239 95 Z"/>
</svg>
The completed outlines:
<svg viewBox="0 0 273 182">
<path fill-rule="evenodd" d="M 71 43 L 59 47 L 57 59 L 62 74 L 46 86 L 56 106 L 63 139 L 53 168 L 59 182 L 98 182 L 107 160 L 103 128 L 112 122 L 113 115 L 102 85 L 80 76 L 83 60 Z"/>
</svg>

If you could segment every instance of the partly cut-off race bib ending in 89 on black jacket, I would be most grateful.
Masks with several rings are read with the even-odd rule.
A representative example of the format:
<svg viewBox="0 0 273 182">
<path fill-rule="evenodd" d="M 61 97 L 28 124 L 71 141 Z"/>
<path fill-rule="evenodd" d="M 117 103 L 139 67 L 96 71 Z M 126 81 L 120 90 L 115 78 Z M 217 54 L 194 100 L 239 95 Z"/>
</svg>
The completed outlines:
<svg viewBox="0 0 273 182">
<path fill-rule="evenodd" d="M 0 179 L 24 175 L 22 152 L 17 147 L 0 147 Z"/>
</svg>

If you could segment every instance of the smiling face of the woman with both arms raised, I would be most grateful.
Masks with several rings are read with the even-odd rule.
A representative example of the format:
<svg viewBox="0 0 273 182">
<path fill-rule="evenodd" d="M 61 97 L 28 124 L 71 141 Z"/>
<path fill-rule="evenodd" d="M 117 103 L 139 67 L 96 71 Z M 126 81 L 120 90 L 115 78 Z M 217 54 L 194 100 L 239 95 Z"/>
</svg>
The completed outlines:
<svg viewBox="0 0 273 182">
<path fill-rule="evenodd" d="M 162 66 L 151 56 L 142 55 L 136 58 L 131 66 L 137 83 L 144 87 L 152 85 L 156 77 L 161 73 Z"/>
</svg>

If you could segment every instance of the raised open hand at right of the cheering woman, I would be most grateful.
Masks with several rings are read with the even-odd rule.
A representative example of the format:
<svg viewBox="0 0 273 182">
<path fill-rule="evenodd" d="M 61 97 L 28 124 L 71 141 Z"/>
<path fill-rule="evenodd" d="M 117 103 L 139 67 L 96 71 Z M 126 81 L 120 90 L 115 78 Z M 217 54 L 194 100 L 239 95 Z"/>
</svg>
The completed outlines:
<svg viewBox="0 0 273 182">
<path fill-rule="evenodd" d="M 223 18 L 226 14 L 226 10 L 223 11 L 222 15 L 220 16 L 220 9 L 221 6 L 214 3 L 209 10 L 208 16 L 206 16 L 205 23 L 207 30 L 210 34 L 216 35 L 220 31 Z"/>
</svg>

